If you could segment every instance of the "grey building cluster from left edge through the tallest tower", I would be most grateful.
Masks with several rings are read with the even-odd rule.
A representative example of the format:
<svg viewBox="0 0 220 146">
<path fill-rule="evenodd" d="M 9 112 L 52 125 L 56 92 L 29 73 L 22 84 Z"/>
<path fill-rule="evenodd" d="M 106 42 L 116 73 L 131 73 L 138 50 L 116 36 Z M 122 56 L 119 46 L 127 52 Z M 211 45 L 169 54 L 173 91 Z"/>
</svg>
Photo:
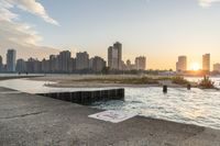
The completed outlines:
<svg viewBox="0 0 220 146">
<path fill-rule="evenodd" d="M 0 56 L 0 72 L 101 72 L 103 69 L 109 70 L 145 70 L 146 58 L 144 56 L 136 57 L 134 64 L 130 60 L 124 64 L 122 60 L 122 44 L 117 42 L 108 48 L 108 65 L 107 61 L 99 57 L 89 57 L 87 52 L 77 53 L 76 57 L 72 57 L 69 50 L 63 50 L 58 55 L 50 55 L 48 59 L 38 60 L 37 58 L 16 59 L 16 50 L 8 49 L 7 60 Z"/>
</svg>

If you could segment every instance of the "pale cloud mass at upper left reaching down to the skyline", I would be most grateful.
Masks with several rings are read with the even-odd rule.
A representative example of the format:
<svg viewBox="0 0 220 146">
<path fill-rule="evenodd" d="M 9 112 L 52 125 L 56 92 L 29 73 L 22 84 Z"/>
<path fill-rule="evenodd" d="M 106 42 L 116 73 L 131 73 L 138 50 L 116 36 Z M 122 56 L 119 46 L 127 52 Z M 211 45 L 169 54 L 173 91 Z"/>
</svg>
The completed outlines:
<svg viewBox="0 0 220 146">
<path fill-rule="evenodd" d="M 40 46 L 38 43 L 43 37 L 35 31 L 34 25 L 23 22 L 20 15 L 12 11 L 14 7 L 41 16 L 51 24 L 58 25 L 35 0 L 0 0 L 0 54 L 4 54 L 10 47 L 14 47 L 20 56 L 57 52 L 51 47 Z"/>
</svg>

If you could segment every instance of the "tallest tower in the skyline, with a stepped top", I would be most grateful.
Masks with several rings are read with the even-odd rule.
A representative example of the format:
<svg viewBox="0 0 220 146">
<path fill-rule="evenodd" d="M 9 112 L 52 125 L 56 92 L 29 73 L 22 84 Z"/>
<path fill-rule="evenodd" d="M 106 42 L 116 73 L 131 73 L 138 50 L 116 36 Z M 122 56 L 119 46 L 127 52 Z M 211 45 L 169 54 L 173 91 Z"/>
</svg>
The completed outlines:
<svg viewBox="0 0 220 146">
<path fill-rule="evenodd" d="M 108 48 L 108 66 L 110 69 L 122 69 L 122 44 L 117 42 Z"/>
</svg>

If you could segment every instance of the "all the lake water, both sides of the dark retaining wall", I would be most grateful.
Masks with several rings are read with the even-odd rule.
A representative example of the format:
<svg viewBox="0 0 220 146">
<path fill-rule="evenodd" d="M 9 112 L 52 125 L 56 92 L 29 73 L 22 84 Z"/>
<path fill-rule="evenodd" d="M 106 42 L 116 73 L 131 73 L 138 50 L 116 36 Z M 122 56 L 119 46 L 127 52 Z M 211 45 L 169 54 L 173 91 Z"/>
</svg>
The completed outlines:
<svg viewBox="0 0 220 146">
<path fill-rule="evenodd" d="M 190 78 L 189 80 L 199 80 Z M 213 78 L 219 87 L 220 78 Z M 1 87 L 24 92 L 55 92 L 97 90 L 97 88 L 48 88 L 45 81 L 13 79 L 0 81 Z M 100 88 L 99 88 L 100 89 Z M 106 89 L 106 88 L 105 88 Z M 162 88 L 125 88 L 124 101 L 96 103 L 95 108 L 105 110 L 123 110 L 143 116 L 196 124 L 220 130 L 220 91 L 193 88 L 169 88 L 164 94 Z"/>
</svg>

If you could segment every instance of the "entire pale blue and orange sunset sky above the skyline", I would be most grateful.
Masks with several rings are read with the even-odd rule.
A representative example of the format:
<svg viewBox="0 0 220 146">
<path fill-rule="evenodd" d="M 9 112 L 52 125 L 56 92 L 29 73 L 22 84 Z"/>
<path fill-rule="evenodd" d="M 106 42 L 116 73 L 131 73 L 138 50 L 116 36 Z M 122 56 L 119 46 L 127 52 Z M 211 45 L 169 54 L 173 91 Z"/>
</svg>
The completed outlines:
<svg viewBox="0 0 220 146">
<path fill-rule="evenodd" d="M 69 49 L 107 59 L 117 41 L 124 60 L 146 56 L 148 69 L 175 69 L 179 55 L 189 67 L 206 53 L 220 63 L 220 0 L 0 0 L 2 57 Z"/>
</svg>

